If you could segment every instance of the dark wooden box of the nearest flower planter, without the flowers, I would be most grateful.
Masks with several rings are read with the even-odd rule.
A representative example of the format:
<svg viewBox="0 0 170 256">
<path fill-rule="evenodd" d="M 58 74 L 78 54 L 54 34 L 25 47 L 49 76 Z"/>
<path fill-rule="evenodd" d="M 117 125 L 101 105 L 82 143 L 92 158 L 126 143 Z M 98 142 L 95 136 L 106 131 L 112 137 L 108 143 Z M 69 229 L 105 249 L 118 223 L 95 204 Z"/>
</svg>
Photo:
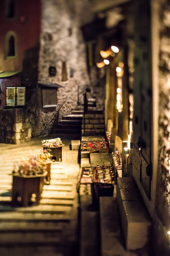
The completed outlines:
<svg viewBox="0 0 170 256">
<path fill-rule="evenodd" d="M 12 204 L 22 207 L 28 207 L 32 194 L 36 195 L 36 204 L 40 204 L 44 178 L 48 172 L 41 175 L 23 175 L 14 174 L 12 183 Z M 21 201 L 18 201 L 18 197 Z"/>
</svg>

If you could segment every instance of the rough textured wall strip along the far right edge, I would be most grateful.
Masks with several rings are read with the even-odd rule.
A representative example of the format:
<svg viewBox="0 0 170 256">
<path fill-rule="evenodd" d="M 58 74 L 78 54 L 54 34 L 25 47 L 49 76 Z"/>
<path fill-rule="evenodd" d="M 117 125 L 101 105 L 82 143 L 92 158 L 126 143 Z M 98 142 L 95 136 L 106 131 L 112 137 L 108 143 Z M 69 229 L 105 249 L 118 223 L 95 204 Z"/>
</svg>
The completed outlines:
<svg viewBox="0 0 170 256">
<path fill-rule="evenodd" d="M 159 14 L 159 161 L 156 211 L 163 224 L 170 228 L 170 5 L 163 1 Z"/>
</svg>

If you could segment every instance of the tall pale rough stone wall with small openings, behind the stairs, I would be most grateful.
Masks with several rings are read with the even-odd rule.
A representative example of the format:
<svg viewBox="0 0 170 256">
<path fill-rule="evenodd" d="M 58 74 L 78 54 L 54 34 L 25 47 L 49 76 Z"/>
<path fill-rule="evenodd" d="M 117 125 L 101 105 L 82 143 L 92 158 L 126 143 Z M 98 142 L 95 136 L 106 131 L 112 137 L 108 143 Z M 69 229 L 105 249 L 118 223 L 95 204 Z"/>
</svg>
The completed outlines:
<svg viewBox="0 0 170 256">
<path fill-rule="evenodd" d="M 78 3 L 72 1 L 70 5 L 69 1 L 42 0 L 39 81 L 63 86 L 58 89 L 58 106 L 66 100 L 60 117 L 75 109 L 78 97 L 81 101 L 84 90 L 90 86 L 85 45 L 79 28 L 81 15 L 88 10 L 82 10 Z M 86 16 L 83 19 L 86 20 Z M 67 81 L 61 81 L 63 62 L 66 63 Z M 55 77 L 49 76 L 50 66 L 57 69 Z"/>
</svg>

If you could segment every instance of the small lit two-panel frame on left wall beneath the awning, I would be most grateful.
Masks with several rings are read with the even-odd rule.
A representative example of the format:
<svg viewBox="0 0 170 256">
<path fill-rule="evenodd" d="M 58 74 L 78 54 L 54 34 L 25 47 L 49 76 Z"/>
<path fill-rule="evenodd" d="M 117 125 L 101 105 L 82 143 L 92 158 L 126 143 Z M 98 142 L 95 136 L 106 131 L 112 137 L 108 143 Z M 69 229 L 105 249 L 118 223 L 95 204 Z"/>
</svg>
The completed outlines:
<svg viewBox="0 0 170 256">
<path fill-rule="evenodd" d="M 25 87 L 6 87 L 6 106 L 25 106 Z"/>
</svg>

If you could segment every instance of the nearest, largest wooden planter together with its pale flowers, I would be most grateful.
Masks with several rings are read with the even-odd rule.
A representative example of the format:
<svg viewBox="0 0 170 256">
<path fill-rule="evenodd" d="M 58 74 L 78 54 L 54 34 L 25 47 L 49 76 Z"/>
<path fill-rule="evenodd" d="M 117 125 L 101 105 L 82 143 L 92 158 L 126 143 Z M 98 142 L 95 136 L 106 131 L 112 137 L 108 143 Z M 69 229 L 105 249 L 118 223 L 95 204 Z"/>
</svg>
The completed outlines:
<svg viewBox="0 0 170 256">
<path fill-rule="evenodd" d="M 12 171 L 12 204 L 27 207 L 32 194 L 35 194 L 36 204 L 39 205 L 47 174 L 45 161 L 37 155 L 33 155 L 28 161 L 23 159 L 19 164 L 15 163 Z"/>
</svg>

